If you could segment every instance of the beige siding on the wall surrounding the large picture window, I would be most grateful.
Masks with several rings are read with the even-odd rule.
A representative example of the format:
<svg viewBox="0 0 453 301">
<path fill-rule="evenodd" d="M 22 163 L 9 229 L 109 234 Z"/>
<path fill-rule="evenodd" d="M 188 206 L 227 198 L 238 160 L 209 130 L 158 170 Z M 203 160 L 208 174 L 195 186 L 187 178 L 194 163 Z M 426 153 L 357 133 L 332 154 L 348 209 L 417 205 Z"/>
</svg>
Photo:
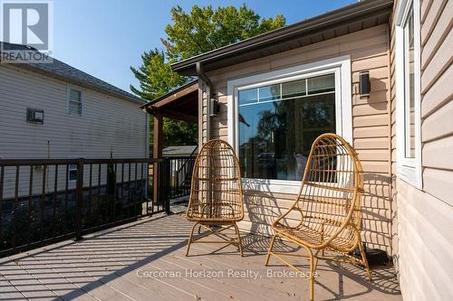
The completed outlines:
<svg viewBox="0 0 453 301">
<path fill-rule="evenodd" d="M 215 86 L 220 103 L 219 114 L 217 117 L 211 117 L 209 122 L 210 138 L 227 139 L 226 85 L 228 80 L 306 62 L 351 55 L 353 144 L 366 172 L 363 237 L 369 247 L 386 249 L 391 253 L 388 37 L 388 26 L 383 24 L 303 48 L 212 71 L 208 76 Z M 360 71 L 370 71 L 370 99 L 359 97 Z M 203 127 L 203 130 L 205 129 L 206 126 Z M 271 233 L 270 223 L 275 221 L 276 217 L 294 202 L 294 199 L 293 194 L 246 191 L 246 219 L 241 223 L 241 228 L 265 234 Z"/>
</svg>

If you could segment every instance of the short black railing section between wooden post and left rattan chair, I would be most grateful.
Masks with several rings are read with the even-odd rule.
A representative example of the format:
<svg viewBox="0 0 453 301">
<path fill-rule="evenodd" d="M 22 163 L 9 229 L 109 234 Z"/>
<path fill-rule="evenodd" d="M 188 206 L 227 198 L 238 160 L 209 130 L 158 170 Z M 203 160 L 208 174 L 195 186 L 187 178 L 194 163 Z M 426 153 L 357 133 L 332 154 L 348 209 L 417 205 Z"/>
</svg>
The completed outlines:
<svg viewBox="0 0 453 301">
<path fill-rule="evenodd" d="M 195 164 L 195 156 L 170 157 L 170 199 L 186 196 L 190 193 L 190 181 Z"/>
</svg>

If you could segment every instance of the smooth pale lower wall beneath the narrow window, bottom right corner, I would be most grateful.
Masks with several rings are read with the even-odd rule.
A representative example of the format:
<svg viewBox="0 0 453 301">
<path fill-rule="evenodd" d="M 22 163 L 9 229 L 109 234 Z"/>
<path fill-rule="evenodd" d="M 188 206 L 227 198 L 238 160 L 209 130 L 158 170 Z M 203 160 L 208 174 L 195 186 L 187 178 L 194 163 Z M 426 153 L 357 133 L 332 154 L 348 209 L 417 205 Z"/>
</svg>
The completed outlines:
<svg viewBox="0 0 453 301">
<path fill-rule="evenodd" d="M 400 287 L 404 300 L 451 300 L 453 212 L 446 202 L 397 180 Z"/>
</svg>

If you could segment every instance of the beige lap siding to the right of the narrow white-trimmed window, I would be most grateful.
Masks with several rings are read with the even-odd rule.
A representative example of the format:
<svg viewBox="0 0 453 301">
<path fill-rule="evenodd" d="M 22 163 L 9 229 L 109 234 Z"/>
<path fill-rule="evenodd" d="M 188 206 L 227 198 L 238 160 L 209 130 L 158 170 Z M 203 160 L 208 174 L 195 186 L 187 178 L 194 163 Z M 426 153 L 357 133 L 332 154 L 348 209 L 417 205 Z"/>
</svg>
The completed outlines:
<svg viewBox="0 0 453 301">
<path fill-rule="evenodd" d="M 434 1 L 427 15 L 421 24 L 423 190 L 452 206 L 453 1 Z"/>
</svg>

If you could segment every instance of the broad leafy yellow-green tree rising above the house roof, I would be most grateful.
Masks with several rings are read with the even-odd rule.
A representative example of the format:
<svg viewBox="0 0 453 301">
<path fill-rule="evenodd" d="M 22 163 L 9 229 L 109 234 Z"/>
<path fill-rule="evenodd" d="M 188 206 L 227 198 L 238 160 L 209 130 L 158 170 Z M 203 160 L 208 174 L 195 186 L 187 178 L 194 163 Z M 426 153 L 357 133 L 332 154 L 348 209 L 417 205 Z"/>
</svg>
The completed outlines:
<svg viewBox="0 0 453 301">
<path fill-rule="evenodd" d="M 171 9 L 173 24 L 167 25 L 162 39 L 169 61 L 184 60 L 203 52 L 253 37 L 284 26 L 284 16 L 262 18 L 244 4 L 217 7 L 194 5 L 190 13 L 180 6 Z"/>
</svg>

